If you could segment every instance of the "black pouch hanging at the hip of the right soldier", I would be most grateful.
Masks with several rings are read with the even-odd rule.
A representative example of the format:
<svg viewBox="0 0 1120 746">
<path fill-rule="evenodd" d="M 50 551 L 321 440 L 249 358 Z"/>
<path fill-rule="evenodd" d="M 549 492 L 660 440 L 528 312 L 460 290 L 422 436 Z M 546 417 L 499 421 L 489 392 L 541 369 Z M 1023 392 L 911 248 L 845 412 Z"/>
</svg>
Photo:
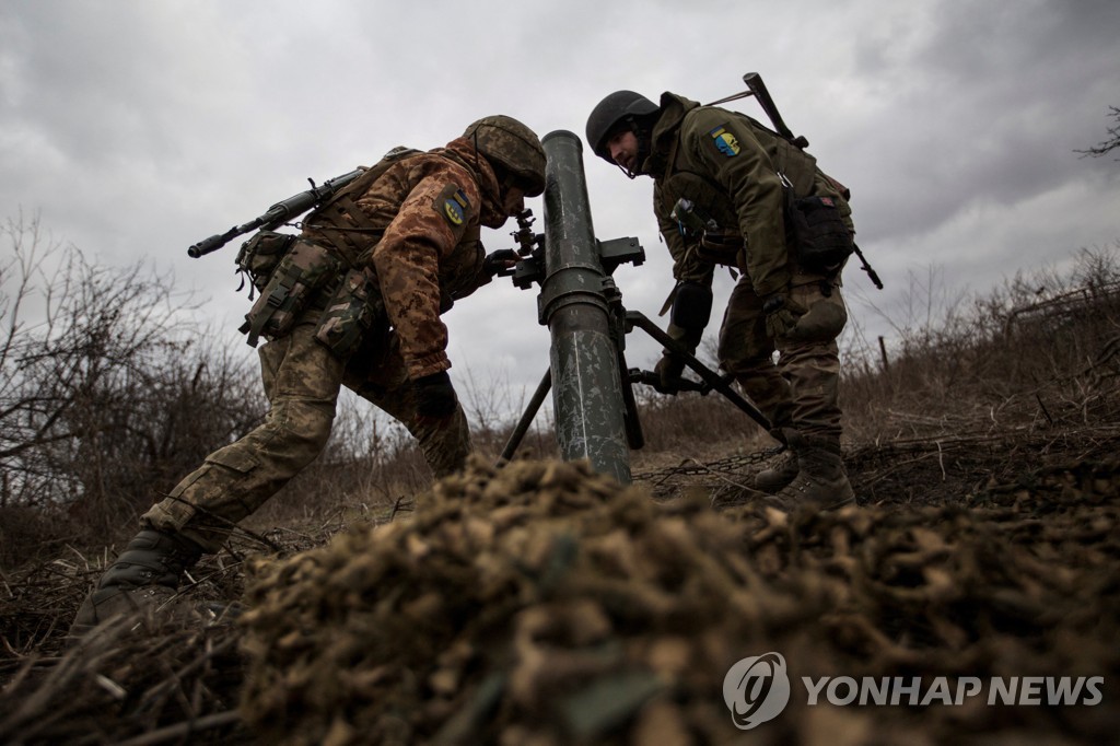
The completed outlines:
<svg viewBox="0 0 1120 746">
<path fill-rule="evenodd" d="M 855 251 L 836 199 L 797 197 L 788 186 L 783 190 L 786 245 L 797 264 L 813 274 L 836 274 Z"/>
</svg>

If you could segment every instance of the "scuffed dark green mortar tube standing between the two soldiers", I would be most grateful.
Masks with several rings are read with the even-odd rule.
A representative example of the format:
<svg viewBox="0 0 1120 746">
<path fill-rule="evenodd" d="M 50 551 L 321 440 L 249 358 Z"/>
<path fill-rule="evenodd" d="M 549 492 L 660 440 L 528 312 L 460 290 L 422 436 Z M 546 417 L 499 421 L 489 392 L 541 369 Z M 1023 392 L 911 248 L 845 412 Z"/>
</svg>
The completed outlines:
<svg viewBox="0 0 1120 746">
<path fill-rule="evenodd" d="M 618 351 L 584 175 L 582 143 L 567 130 L 541 140 L 544 168 L 544 280 L 540 320 L 552 334 L 550 365 L 557 441 L 564 460 L 631 483 Z"/>
</svg>

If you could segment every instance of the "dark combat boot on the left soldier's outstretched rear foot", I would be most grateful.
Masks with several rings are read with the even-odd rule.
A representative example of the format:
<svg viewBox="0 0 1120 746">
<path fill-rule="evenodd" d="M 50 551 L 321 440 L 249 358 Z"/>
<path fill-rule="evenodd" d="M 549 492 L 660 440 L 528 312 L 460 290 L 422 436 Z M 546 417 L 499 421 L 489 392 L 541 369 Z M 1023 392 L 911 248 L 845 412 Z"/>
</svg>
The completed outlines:
<svg viewBox="0 0 1120 746">
<path fill-rule="evenodd" d="M 155 609 L 175 596 L 179 580 L 202 557 L 202 548 L 178 534 L 140 531 L 101 576 L 78 608 L 71 636 L 80 636 L 119 614 Z"/>
</svg>

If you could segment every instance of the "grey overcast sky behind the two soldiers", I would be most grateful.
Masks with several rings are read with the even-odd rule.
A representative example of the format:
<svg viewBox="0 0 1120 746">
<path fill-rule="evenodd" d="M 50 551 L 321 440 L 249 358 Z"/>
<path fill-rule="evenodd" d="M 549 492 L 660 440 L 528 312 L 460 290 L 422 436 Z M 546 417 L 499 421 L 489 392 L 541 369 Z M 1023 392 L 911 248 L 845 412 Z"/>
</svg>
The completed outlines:
<svg viewBox="0 0 1120 746">
<path fill-rule="evenodd" d="M 38 213 L 100 263 L 174 272 L 208 299 L 199 320 L 254 355 L 235 330 L 237 242 L 202 259 L 190 244 L 479 116 L 582 138 L 615 90 L 709 102 L 747 72 L 853 193 L 887 285 L 846 271 L 871 334 L 912 273 L 984 292 L 1120 239 L 1120 162 L 1074 152 L 1120 105 L 1114 0 L 0 0 L 0 220 Z M 597 237 L 637 236 L 648 257 L 616 271 L 624 302 L 655 317 L 672 280 L 652 181 L 584 155 Z M 487 249 L 515 227 L 484 231 Z M 458 384 L 532 391 L 549 347 L 535 295 L 500 278 L 445 317 Z M 638 335 L 628 362 L 652 366 Z"/>
</svg>

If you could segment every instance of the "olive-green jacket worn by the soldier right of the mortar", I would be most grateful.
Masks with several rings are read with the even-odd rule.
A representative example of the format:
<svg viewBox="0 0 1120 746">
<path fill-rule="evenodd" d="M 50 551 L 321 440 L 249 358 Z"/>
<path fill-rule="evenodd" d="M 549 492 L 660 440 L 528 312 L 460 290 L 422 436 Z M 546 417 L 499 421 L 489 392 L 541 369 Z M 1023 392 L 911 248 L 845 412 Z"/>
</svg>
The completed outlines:
<svg viewBox="0 0 1120 746">
<path fill-rule="evenodd" d="M 850 223 L 839 185 L 816 168 L 812 156 L 746 114 L 702 106 L 673 93 L 661 96 L 652 153 L 642 171 L 654 178 L 654 212 L 678 280 L 710 283 L 715 269 L 697 257 L 670 217 L 682 197 L 702 207 L 725 235 L 741 237 L 738 265 L 759 296 L 785 289 L 799 273 L 786 250 L 778 171 L 793 183 L 797 196 L 838 198 Z"/>
</svg>

